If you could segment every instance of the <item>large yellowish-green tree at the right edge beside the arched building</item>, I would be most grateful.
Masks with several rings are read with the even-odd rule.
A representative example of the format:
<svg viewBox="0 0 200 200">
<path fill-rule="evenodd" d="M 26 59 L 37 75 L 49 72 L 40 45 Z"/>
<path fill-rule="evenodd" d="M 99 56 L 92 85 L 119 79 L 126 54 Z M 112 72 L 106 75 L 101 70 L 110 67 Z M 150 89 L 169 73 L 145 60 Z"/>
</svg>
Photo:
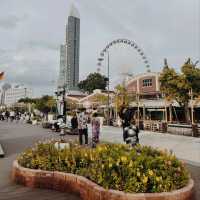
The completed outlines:
<svg viewBox="0 0 200 200">
<path fill-rule="evenodd" d="M 168 101 L 176 100 L 185 110 L 185 118 L 189 122 L 189 101 L 191 91 L 193 97 L 200 95 L 200 69 L 189 58 L 178 73 L 167 64 L 160 74 L 160 89 Z"/>
</svg>

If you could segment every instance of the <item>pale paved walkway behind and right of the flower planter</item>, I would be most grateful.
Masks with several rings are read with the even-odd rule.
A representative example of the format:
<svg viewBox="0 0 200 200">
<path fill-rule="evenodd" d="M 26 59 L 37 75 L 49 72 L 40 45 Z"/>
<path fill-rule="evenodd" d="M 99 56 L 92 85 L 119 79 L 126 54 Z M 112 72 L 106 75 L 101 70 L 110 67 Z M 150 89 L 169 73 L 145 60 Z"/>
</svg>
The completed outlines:
<svg viewBox="0 0 200 200">
<path fill-rule="evenodd" d="M 91 135 L 91 131 L 90 131 Z M 140 144 L 172 150 L 175 155 L 192 165 L 200 166 L 200 138 L 141 131 Z M 101 141 L 123 143 L 122 129 L 103 127 Z"/>
</svg>

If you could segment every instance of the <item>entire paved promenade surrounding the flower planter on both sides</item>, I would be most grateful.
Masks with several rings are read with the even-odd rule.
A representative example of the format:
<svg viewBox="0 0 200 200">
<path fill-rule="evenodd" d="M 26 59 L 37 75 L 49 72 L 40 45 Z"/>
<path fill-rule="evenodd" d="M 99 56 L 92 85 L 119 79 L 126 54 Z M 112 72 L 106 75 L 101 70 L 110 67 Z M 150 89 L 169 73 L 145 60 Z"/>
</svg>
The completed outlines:
<svg viewBox="0 0 200 200">
<path fill-rule="evenodd" d="M 89 128 L 91 136 L 91 129 Z M 177 157 L 186 160 L 187 167 L 195 180 L 195 197 L 200 197 L 200 138 L 174 136 L 169 134 L 141 132 L 140 143 L 161 149 L 171 149 Z M 5 157 L 0 158 L 0 200 L 80 200 L 72 194 L 51 190 L 30 189 L 11 182 L 12 162 L 17 154 L 32 146 L 38 140 L 59 138 L 58 133 L 42 129 L 40 126 L 0 122 L 0 143 Z M 76 139 L 77 136 L 65 136 Z M 122 143 L 122 130 L 114 127 L 103 127 L 101 141 Z M 192 200 L 192 199 L 191 199 Z"/>
</svg>

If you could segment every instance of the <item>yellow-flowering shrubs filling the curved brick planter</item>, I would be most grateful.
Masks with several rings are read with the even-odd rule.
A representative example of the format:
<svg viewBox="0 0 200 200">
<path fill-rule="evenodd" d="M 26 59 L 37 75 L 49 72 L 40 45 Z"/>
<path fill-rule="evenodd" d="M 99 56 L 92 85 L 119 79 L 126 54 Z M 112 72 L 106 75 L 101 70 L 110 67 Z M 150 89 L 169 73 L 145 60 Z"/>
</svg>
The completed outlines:
<svg viewBox="0 0 200 200">
<path fill-rule="evenodd" d="M 78 174 L 106 189 L 125 192 L 168 192 L 189 180 L 184 164 L 172 153 L 140 145 L 100 144 L 91 149 L 72 143 L 59 150 L 52 142 L 39 143 L 18 161 L 27 168 Z"/>
</svg>

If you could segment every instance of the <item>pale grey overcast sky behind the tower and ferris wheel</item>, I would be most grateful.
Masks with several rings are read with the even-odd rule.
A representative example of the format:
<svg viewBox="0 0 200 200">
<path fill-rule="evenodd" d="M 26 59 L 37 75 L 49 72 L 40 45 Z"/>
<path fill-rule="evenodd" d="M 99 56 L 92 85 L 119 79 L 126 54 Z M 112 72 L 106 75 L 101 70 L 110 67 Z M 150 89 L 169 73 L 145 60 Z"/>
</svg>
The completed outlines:
<svg viewBox="0 0 200 200">
<path fill-rule="evenodd" d="M 151 71 L 161 71 L 164 58 L 177 70 L 188 57 L 200 60 L 199 0 L 0 0 L 4 82 L 29 86 L 34 96 L 53 94 L 72 3 L 81 18 L 80 80 L 97 71 L 100 52 L 118 38 L 137 43 Z M 124 73 L 146 71 L 135 49 L 115 45 L 109 52 L 112 86 Z"/>
</svg>

